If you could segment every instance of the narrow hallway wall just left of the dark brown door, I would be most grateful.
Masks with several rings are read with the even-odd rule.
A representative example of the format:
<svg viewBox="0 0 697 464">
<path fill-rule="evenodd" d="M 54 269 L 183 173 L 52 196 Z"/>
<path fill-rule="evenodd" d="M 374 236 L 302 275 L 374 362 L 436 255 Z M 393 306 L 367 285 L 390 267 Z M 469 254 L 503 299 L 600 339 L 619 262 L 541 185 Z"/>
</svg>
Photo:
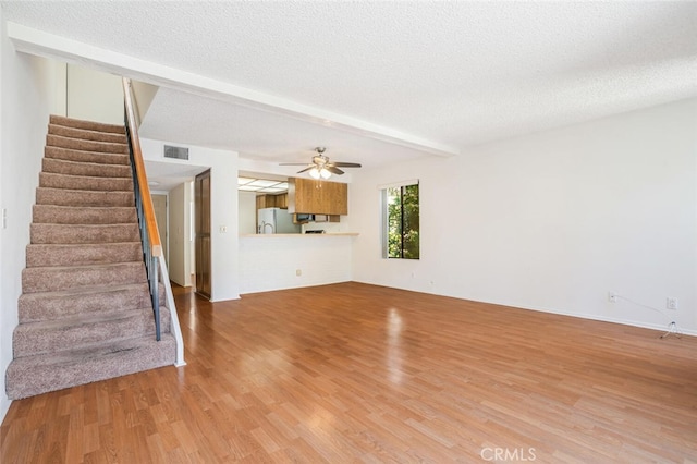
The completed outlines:
<svg viewBox="0 0 697 464">
<path fill-rule="evenodd" d="M 182 285 L 192 285 L 191 269 L 191 188 L 188 183 L 180 184 L 169 194 L 170 211 L 170 260 L 168 270 L 170 280 Z"/>
</svg>

